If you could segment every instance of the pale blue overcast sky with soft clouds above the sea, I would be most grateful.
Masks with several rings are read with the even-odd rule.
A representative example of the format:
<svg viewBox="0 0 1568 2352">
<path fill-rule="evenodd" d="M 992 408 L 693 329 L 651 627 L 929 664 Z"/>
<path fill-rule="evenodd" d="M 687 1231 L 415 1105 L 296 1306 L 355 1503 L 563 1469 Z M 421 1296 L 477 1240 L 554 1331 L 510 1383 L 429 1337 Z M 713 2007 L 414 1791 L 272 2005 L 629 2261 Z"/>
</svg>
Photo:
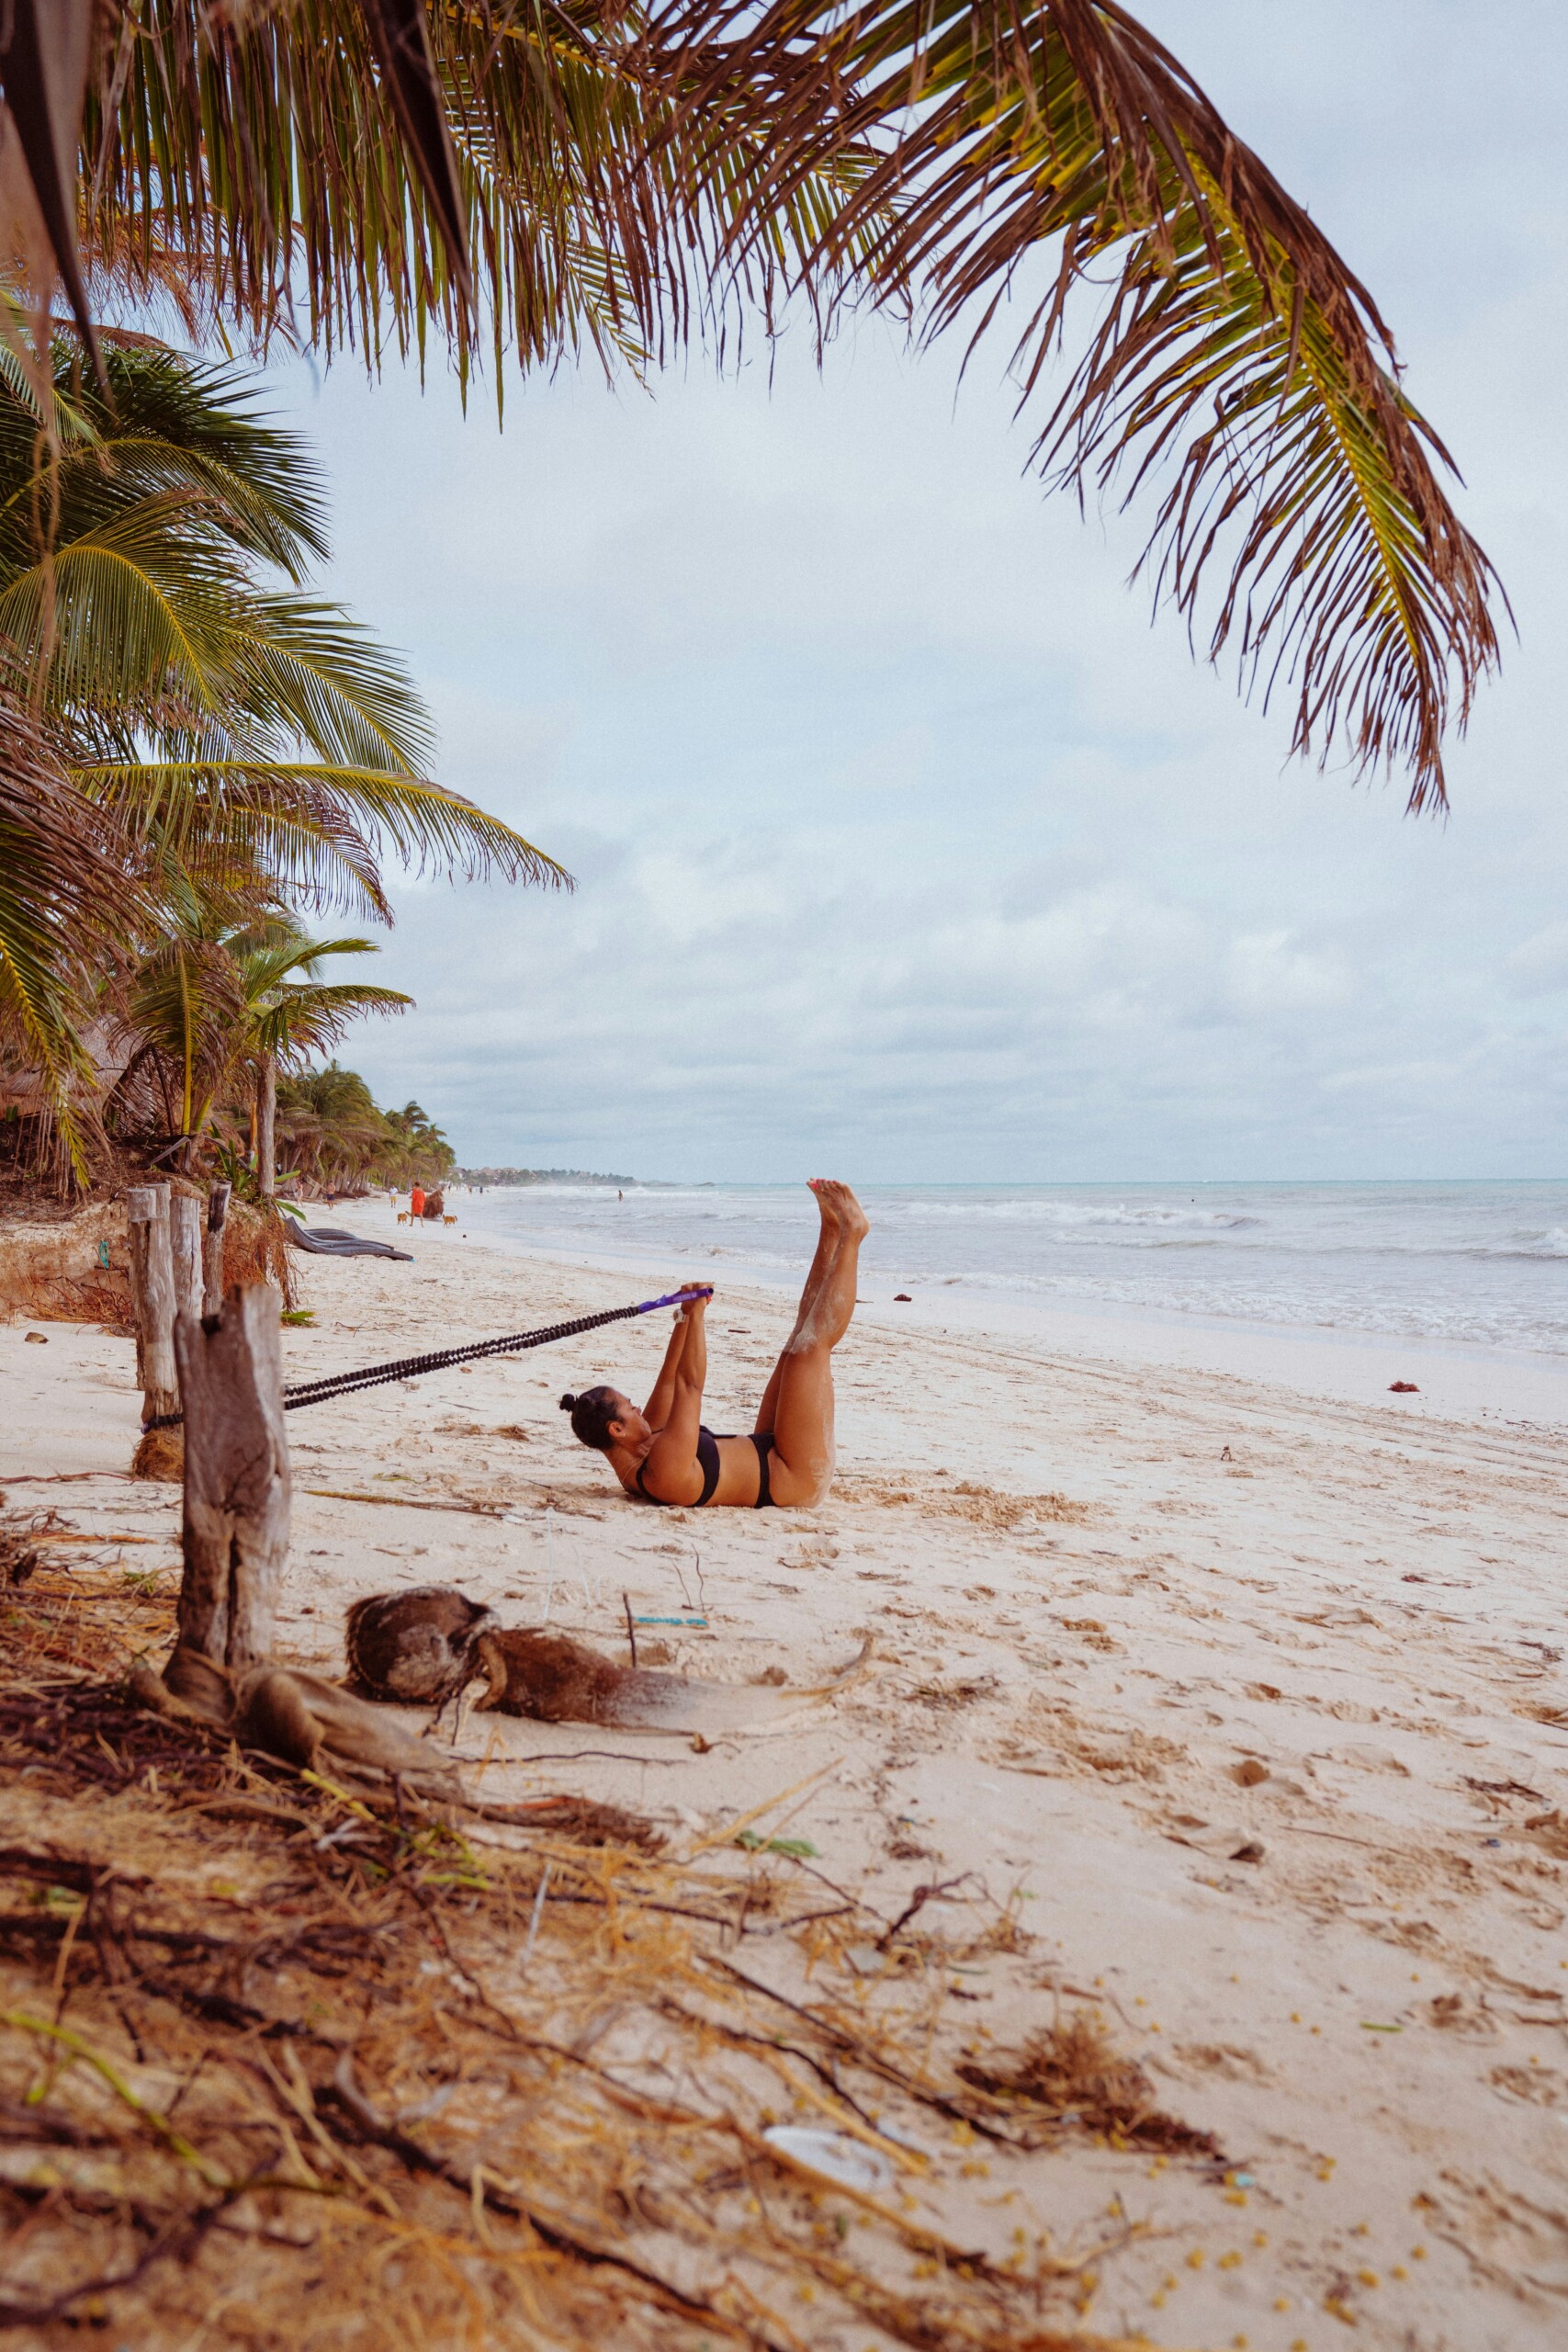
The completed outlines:
<svg viewBox="0 0 1568 2352">
<path fill-rule="evenodd" d="M 1453 816 L 1286 764 L 1023 473 L 1004 343 L 651 397 L 277 372 L 329 586 L 571 898 L 402 884 L 357 1030 L 465 1162 L 677 1178 L 1568 1174 L 1561 5 L 1145 0 L 1396 329 L 1519 621 Z M 1483 38 L 1476 28 L 1483 21 Z"/>
</svg>

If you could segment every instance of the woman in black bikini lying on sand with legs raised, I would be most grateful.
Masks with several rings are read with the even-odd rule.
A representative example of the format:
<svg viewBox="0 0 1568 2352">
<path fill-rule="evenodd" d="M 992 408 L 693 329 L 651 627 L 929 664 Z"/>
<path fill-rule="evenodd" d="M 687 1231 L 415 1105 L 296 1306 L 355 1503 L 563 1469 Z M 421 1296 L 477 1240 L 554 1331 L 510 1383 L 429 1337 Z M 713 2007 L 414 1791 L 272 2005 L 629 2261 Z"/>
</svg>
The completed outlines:
<svg viewBox="0 0 1568 2352">
<path fill-rule="evenodd" d="M 832 1350 L 856 1312 L 856 1268 L 865 1209 L 846 1183 L 813 1178 L 823 1216 L 799 1315 L 773 1364 L 750 1437 L 715 1437 L 703 1428 L 708 1381 L 705 1298 L 675 1310 L 675 1331 L 654 1395 L 639 1414 L 618 1388 L 562 1397 L 571 1432 L 609 1454 L 609 1465 L 639 1503 L 701 1510 L 733 1503 L 762 1510 L 809 1510 L 832 1482 Z"/>
</svg>

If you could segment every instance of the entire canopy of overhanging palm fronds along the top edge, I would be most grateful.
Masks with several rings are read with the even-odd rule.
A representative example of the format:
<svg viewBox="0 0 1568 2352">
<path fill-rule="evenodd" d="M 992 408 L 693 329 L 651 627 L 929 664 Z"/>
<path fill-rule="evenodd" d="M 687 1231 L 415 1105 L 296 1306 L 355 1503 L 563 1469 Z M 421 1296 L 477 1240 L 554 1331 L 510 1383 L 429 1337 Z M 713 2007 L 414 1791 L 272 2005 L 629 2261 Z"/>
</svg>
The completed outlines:
<svg viewBox="0 0 1568 2352">
<path fill-rule="evenodd" d="M 5 73 L 82 320 L 78 115 L 87 252 L 132 294 L 176 252 L 263 346 L 435 339 L 498 388 L 508 346 L 658 360 L 795 292 L 922 339 L 1018 296 L 1034 402 L 1098 299 L 1048 480 L 1152 503 L 1157 597 L 1288 684 L 1298 750 L 1441 804 L 1497 659 L 1448 454 L 1373 296 L 1119 0 L 103 0 L 89 66 L 92 7 L 12 0 Z"/>
</svg>

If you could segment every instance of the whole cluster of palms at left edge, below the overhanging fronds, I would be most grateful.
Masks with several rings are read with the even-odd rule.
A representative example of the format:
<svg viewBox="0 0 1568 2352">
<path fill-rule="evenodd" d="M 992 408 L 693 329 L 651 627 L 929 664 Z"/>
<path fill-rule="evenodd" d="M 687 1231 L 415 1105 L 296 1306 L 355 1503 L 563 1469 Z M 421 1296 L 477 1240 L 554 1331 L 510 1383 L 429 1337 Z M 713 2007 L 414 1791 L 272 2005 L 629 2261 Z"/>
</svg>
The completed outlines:
<svg viewBox="0 0 1568 2352">
<path fill-rule="evenodd" d="M 49 400 L 0 372 L 0 1058 L 85 1181 L 113 1141 L 190 1174 L 249 1096 L 273 1190 L 280 1068 L 409 997 L 327 981 L 308 915 L 390 922 L 383 866 L 552 882 L 435 783 L 397 654 L 310 595 L 315 463 L 230 367 L 56 339 Z M 40 524 L 47 517 L 47 527 Z"/>
</svg>

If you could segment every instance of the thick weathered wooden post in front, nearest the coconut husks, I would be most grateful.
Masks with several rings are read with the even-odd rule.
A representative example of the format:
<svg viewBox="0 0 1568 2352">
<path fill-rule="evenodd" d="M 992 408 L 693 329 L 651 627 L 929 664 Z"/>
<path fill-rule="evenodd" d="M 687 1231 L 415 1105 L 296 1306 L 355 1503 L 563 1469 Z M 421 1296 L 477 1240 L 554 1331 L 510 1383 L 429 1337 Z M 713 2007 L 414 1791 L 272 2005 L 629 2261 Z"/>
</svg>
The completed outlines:
<svg viewBox="0 0 1568 2352">
<path fill-rule="evenodd" d="M 256 1282 L 228 1291 L 209 1322 L 181 1315 L 174 1350 L 186 1399 L 179 1639 L 240 1670 L 273 1651 L 289 1557 L 277 1291 Z"/>
</svg>

